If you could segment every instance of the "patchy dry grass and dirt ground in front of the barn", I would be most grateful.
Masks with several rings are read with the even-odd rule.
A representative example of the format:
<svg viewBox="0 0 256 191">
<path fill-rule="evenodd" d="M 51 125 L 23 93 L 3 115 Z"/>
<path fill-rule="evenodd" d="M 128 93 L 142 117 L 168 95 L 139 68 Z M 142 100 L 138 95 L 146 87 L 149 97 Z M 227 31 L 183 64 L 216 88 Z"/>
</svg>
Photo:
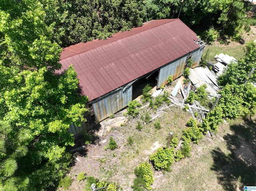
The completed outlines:
<svg viewBox="0 0 256 191">
<path fill-rule="evenodd" d="M 170 91 L 170 87 L 168 90 Z M 77 176 L 84 172 L 87 176 L 94 176 L 100 181 L 115 183 L 119 190 L 132 191 L 135 167 L 148 161 L 150 154 L 166 145 L 169 132 L 174 132 L 174 135 L 180 138 L 182 129 L 191 118 L 189 112 L 180 110 L 178 106 L 170 104 L 168 108 L 162 106 L 156 113 L 150 113 L 151 117 L 157 116 L 155 120 L 160 120 L 160 130 L 154 128 L 154 120 L 142 124 L 142 131 L 135 128 L 140 117 L 148 111 L 148 104 L 142 106 L 142 112 L 136 119 L 128 119 L 123 115 L 126 110 L 123 110 L 115 114 L 114 118 L 101 122 L 100 128 L 94 131 L 96 140 L 93 144 L 89 144 L 84 152 L 76 153 L 74 156 L 76 162 L 68 174 L 73 182 L 68 190 L 83 191 L 85 181 L 78 182 Z M 242 120 L 223 123 L 213 139 L 205 136 L 198 145 L 192 144 L 192 157 L 174 162 L 171 172 L 153 170 L 155 181 L 152 190 L 238 191 L 242 190 L 245 183 L 256 183 L 255 144 L 252 145 L 246 139 L 247 134 L 233 137 L 236 136 L 236 132 L 232 128 L 246 128 L 247 125 L 251 128 L 248 130 L 250 132 L 256 124 L 255 118 L 251 123 L 248 125 Z M 118 145 L 113 151 L 105 150 L 110 136 Z M 133 140 L 132 145 L 128 144 L 129 137 Z M 253 143 L 256 143 L 254 134 L 251 138 L 254 140 Z M 237 167 L 237 163 L 241 167 Z M 251 181 L 249 177 L 241 174 L 240 168 L 247 168 Z"/>
</svg>

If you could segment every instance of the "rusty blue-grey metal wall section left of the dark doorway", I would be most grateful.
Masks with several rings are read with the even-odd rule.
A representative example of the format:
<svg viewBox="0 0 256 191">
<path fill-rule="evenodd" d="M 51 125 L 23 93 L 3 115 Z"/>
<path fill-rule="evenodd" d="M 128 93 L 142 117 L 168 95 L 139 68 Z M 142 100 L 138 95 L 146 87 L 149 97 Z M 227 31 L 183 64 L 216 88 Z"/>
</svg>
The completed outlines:
<svg viewBox="0 0 256 191">
<path fill-rule="evenodd" d="M 122 91 L 122 88 L 120 88 L 117 91 L 113 91 L 112 93 L 95 100 L 95 102 L 92 103 L 92 106 L 96 122 L 98 123 L 111 114 L 114 114 L 128 106 L 128 103 L 131 100 L 132 85 L 130 87 L 126 87 L 125 91 Z"/>
</svg>

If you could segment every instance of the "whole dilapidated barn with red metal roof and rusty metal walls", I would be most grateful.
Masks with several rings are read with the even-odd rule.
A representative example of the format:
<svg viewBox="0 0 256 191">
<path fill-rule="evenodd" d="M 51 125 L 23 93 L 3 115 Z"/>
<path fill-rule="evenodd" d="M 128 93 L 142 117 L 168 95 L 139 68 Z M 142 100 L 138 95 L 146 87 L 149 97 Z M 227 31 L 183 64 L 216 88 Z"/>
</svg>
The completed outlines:
<svg viewBox="0 0 256 191">
<path fill-rule="evenodd" d="M 198 66 L 203 49 L 204 43 L 181 20 L 151 20 L 106 40 L 64 48 L 58 73 L 74 66 L 82 94 L 90 99 L 90 116 L 98 123 L 125 108 L 143 81 L 153 79 L 160 88 L 169 76 L 184 73 L 188 59 Z"/>
</svg>

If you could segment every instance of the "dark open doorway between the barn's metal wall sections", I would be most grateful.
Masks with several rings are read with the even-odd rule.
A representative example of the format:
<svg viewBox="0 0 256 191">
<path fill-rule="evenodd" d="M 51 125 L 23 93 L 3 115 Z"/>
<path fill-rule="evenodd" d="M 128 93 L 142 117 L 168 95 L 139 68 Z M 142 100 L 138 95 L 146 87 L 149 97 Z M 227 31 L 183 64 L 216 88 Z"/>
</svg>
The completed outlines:
<svg viewBox="0 0 256 191">
<path fill-rule="evenodd" d="M 149 84 L 152 88 L 157 84 L 158 71 L 148 74 L 142 77 L 132 85 L 132 100 L 136 99 L 138 96 L 142 95 L 142 89 Z"/>
</svg>

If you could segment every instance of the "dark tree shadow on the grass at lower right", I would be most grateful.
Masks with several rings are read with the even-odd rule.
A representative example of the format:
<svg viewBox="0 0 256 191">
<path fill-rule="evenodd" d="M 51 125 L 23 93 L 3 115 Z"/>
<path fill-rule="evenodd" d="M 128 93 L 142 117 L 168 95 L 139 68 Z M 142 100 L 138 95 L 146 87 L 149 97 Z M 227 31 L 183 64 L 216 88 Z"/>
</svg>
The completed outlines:
<svg viewBox="0 0 256 191">
<path fill-rule="evenodd" d="M 218 183 L 224 190 L 244 190 L 246 185 L 256 185 L 256 120 L 246 118 L 243 124 L 230 128 L 234 134 L 223 137 L 229 154 L 220 148 L 212 150 L 211 170 L 216 171 Z"/>
</svg>

